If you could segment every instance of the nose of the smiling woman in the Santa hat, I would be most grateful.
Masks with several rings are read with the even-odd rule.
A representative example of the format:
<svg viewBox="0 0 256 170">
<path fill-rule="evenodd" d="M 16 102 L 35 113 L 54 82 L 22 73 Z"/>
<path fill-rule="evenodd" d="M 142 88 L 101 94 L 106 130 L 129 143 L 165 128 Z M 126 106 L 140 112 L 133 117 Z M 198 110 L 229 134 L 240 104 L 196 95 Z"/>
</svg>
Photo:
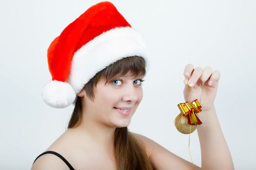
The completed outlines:
<svg viewBox="0 0 256 170">
<path fill-rule="evenodd" d="M 137 102 L 142 97 L 142 88 L 134 85 L 127 85 L 123 90 L 122 100 L 124 102 Z"/>
</svg>

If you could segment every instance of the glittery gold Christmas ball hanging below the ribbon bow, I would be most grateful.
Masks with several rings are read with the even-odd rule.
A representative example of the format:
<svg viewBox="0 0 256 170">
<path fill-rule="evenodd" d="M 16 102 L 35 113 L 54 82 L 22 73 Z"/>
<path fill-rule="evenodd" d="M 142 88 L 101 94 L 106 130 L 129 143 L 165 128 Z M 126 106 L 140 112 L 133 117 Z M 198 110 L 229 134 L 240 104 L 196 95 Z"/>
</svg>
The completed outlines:
<svg viewBox="0 0 256 170">
<path fill-rule="evenodd" d="M 183 116 L 181 113 L 175 118 L 175 126 L 182 134 L 190 134 L 197 129 L 197 125 L 188 124 L 188 118 Z"/>
</svg>

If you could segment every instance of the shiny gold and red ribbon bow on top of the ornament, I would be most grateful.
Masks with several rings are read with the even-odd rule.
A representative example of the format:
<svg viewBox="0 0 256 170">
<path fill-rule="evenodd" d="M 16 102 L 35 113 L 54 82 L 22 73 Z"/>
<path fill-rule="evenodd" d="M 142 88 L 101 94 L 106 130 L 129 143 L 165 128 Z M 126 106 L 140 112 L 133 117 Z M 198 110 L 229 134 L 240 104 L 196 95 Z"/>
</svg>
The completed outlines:
<svg viewBox="0 0 256 170">
<path fill-rule="evenodd" d="M 193 102 L 184 102 L 184 103 L 179 103 L 178 108 L 180 112 L 182 113 L 183 116 L 188 116 L 189 115 L 189 120 L 191 124 L 202 124 L 201 120 L 196 116 L 195 113 L 201 112 L 202 106 L 198 102 L 198 100 L 194 100 Z"/>
</svg>

